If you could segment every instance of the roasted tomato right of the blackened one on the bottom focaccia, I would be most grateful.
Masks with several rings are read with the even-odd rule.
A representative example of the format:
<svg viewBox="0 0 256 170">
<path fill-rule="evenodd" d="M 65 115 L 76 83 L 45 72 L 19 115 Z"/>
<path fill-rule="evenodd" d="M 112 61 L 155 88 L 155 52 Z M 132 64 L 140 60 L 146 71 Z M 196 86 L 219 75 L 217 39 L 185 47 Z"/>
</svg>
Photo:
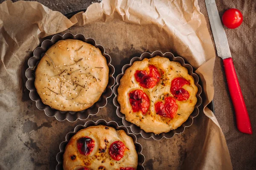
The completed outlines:
<svg viewBox="0 0 256 170">
<path fill-rule="evenodd" d="M 119 161 L 124 157 L 125 154 L 125 144 L 121 141 L 115 141 L 113 142 L 109 147 L 109 154 L 112 157 L 112 159 Z"/>
</svg>

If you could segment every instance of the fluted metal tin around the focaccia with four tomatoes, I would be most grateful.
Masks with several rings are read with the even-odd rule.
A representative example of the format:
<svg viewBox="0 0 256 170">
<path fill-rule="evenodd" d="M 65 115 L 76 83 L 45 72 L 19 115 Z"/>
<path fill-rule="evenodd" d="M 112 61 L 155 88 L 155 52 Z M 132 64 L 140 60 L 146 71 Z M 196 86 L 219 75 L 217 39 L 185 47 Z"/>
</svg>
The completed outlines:
<svg viewBox="0 0 256 170">
<path fill-rule="evenodd" d="M 189 116 L 189 118 L 186 120 L 186 122 L 184 122 L 180 127 L 178 127 L 177 129 L 175 130 L 171 130 L 167 133 L 160 133 L 159 135 L 156 135 L 154 133 L 146 133 L 144 130 L 140 129 L 140 127 L 138 127 L 137 125 L 134 125 L 133 123 L 131 122 L 128 122 L 127 120 L 125 120 L 125 115 L 122 114 L 120 112 L 120 105 L 117 101 L 117 95 L 118 95 L 118 92 L 117 92 L 117 88 L 119 86 L 119 83 L 120 83 L 120 79 L 122 78 L 122 76 L 125 74 L 125 70 L 129 67 L 131 67 L 131 65 L 135 62 L 135 61 L 141 61 L 143 60 L 144 58 L 152 58 L 152 57 L 155 57 L 155 56 L 161 56 L 161 57 L 166 57 L 166 58 L 169 58 L 170 61 L 176 61 L 176 62 L 180 62 L 180 64 L 187 68 L 188 69 L 188 72 L 189 74 L 195 79 L 195 85 L 198 87 L 198 93 L 197 93 L 197 103 L 195 105 L 195 109 L 194 111 L 191 113 L 191 115 Z M 125 125 L 126 127 L 131 127 L 131 131 L 135 134 L 140 134 L 143 138 L 145 139 L 149 139 L 149 138 L 153 138 L 155 140 L 160 140 L 160 139 L 163 139 L 163 138 L 172 138 L 175 134 L 180 134 L 180 133 L 183 133 L 185 128 L 186 127 L 189 127 L 192 125 L 193 123 L 193 119 L 198 116 L 198 113 L 199 113 L 199 106 L 201 105 L 202 103 L 202 98 L 201 98 L 201 93 L 202 93 L 202 87 L 201 85 L 199 85 L 199 77 L 197 74 L 195 74 L 193 72 L 193 68 L 191 65 L 189 64 L 186 64 L 184 59 L 181 58 L 181 57 L 175 57 L 172 53 L 170 52 L 167 52 L 167 53 L 162 53 L 160 51 L 154 51 L 152 54 L 148 53 L 148 52 L 145 52 L 143 54 L 141 54 L 140 57 L 134 57 L 131 59 L 131 62 L 129 64 L 126 64 L 122 67 L 122 73 L 119 74 L 117 77 L 116 77 L 116 85 L 114 86 L 113 88 L 113 93 L 115 94 L 115 97 L 114 97 L 114 100 L 113 100 L 113 104 L 117 107 L 116 109 L 116 114 L 117 116 L 119 116 L 120 118 L 122 118 L 122 123 L 123 125 Z"/>
</svg>

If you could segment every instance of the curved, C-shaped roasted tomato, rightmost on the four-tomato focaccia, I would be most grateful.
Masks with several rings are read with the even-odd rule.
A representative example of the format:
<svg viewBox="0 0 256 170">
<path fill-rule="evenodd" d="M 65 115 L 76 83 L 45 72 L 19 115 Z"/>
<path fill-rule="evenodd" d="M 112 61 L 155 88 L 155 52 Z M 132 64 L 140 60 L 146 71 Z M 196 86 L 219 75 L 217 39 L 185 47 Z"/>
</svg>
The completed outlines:
<svg viewBox="0 0 256 170">
<path fill-rule="evenodd" d="M 177 77 L 172 80 L 171 84 L 171 93 L 179 101 L 189 99 L 189 92 L 184 88 L 181 88 L 183 85 L 190 85 L 190 82 L 183 77 Z"/>
</svg>

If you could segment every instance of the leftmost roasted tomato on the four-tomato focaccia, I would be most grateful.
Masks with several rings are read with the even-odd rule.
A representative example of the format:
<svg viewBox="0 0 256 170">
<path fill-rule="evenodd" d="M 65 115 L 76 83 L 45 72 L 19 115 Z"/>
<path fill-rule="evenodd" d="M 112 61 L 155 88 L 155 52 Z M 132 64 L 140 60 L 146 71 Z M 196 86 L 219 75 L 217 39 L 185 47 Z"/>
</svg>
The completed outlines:
<svg viewBox="0 0 256 170">
<path fill-rule="evenodd" d="M 149 98 L 142 90 L 130 92 L 130 104 L 133 112 L 141 111 L 145 114 L 149 108 Z"/>
</svg>

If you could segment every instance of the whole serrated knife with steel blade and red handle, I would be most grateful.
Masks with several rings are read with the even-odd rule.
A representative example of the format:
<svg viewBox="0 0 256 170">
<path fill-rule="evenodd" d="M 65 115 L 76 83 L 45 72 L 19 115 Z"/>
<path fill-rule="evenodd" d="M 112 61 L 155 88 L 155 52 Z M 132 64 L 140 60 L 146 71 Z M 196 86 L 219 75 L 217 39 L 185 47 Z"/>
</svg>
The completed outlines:
<svg viewBox="0 0 256 170">
<path fill-rule="evenodd" d="M 230 48 L 227 42 L 227 35 L 221 23 L 215 0 L 205 0 L 207 13 L 212 28 L 212 34 L 218 57 L 223 59 L 224 71 L 227 78 L 227 86 L 236 114 L 236 125 L 240 132 L 252 134 L 253 130 L 250 118 L 245 106 L 244 97 L 241 92 L 239 81 L 231 57 Z"/>
</svg>

